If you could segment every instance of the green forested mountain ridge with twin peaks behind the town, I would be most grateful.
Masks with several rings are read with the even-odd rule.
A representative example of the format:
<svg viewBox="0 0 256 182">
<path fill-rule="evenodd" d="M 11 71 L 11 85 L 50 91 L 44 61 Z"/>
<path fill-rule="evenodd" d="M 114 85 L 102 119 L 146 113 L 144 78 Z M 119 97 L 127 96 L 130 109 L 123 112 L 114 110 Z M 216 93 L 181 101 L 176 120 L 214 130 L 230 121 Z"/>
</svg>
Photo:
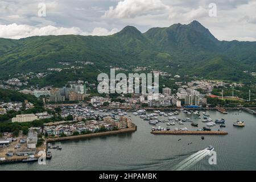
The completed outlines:
<svg viewBox="0 0 256 182">
<path fill-rule="evenodd" d="M 109 36 L 33 36 L 0 39 L 1 77 L 57 68 L 59 61 L 92 61 L 94 68 L 152 66 L 180 75 L 251 79 L 256 70 L 256 42 L 219 41 L 197 21 L 150 28 L 126 26 Z M 232 69 L 230 69 L 232 68 Z"/>
</svg>

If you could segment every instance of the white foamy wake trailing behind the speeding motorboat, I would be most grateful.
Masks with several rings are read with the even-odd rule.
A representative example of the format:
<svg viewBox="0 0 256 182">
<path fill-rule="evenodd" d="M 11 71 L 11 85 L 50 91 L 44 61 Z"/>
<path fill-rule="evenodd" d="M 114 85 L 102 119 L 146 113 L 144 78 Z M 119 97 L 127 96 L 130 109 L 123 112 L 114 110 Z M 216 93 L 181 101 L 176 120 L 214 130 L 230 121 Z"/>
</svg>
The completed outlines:
<svg viewBox="0 0 256 182">
<path fill-rule="evenodd" d="M 205 156 L 209 154 L 210 154 L 210 150 L 208 150 L 208 148 L 205 148 L 204 150 L 200 150 L 195 154 L 189 156 L 187 159 L 184 159 L 183 161 L 181 161 L 179 164 L 177 164 L 177 166 L 174 167 L 173 170 L 181 171 L 181 170 L 191 168 L 192 166 L 194 166 L 200 160 L 204 159 Z"/>
</svg>

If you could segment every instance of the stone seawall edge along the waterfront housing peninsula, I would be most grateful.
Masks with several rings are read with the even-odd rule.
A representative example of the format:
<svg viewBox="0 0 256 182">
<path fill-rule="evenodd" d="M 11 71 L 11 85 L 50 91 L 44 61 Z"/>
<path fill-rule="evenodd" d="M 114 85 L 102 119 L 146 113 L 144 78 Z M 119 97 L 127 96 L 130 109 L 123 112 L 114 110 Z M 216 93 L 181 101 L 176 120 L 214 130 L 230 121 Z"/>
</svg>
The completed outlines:
<svg viewBox="0 0 256 182">
<path fill-rule="evenodd" d="M 122 134 L 122 133 L 134 133 L 135 131 L 137 131 L 136 125 L 128 129 L 121 129 L 116 131 L 106 131 L 102 133 L 92 133 L 92 134 L 76 135 L 76 136 L 69 136 L 69 137 L 48 138 L 46 139 L 46 143 L 59 142 L 64 140 L 78 140 L 82 138 L 103 137 L 103 136 L 116 135 L 116 134 Z"/>
</svg>

